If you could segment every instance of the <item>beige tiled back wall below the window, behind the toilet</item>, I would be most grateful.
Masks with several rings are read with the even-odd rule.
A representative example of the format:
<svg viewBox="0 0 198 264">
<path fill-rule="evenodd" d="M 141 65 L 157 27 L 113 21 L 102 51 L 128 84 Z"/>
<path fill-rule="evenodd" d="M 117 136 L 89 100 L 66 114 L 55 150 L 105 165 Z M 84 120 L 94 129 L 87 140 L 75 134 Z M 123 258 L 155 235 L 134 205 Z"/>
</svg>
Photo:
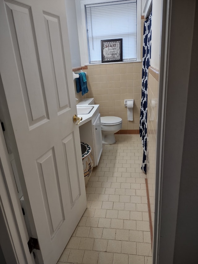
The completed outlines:
<svg viewBox="0 0 198 264">
<path fill-rule="evenodd" d="M 144 19 L 141 19 L 141 47 L 143 27 Z M 81 93 L 76 93 L 76 98 L 80 101 L 83 98 L 94 97 L 95 104 L 100 105 L 101 116 L 121 117 L 123 119 L 122 130 L 139 129 L 142 62 L 88 65 L 88 69 L 84 71 L 87 72 L 89 92 L 83 97 Z M 133 121 L 127 120 L 127 107 L 124 106 L 124 99 L 134 99 Z"/>
</svg>

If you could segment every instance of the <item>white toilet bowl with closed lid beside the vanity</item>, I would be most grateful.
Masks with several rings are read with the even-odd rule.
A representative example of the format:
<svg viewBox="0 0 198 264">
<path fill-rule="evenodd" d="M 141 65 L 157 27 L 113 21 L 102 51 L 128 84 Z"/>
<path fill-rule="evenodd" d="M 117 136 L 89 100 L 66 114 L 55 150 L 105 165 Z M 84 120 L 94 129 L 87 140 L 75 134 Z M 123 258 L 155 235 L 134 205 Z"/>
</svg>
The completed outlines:
<svg viewBox="0 0 198 264">
<path fill-rule="evenodd" d="M 122 118 L 117 116 L 102 116 L 101 129 L 102 129 L 102 143 L 114 144 L 116 142 L 114 133 L 122 128 Z"/>
</svg>

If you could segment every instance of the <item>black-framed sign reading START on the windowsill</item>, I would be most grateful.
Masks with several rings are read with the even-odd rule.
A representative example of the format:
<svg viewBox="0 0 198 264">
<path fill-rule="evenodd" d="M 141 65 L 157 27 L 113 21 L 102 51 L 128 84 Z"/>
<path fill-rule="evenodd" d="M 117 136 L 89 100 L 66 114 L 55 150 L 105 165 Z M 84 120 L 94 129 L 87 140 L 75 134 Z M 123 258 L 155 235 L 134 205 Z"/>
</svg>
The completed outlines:
<svg viewBox="0 0 198 264">
<path fill-rule="evenodd" d="M 123 39 L 101 40 L 102 63 L 123 61 Z"/>
</svg>

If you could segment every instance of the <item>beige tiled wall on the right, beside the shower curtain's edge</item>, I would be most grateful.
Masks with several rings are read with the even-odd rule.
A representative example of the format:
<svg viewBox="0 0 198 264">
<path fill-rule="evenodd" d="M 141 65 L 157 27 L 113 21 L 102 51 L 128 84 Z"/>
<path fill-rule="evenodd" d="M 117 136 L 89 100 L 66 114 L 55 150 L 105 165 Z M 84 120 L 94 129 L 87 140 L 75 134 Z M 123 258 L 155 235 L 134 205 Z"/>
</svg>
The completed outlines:
<svg viewBox="0 0 198 264">
<path fill-rule="evenodd" d="M 151 222 L 154 224 L 155 181 L 156 181 L 156 140 L 158 114 L 158 71 L 149 68 L 148 76 L 148 112 L 147 112 L 147 180 L 151 209 Z"/>
</svg>

